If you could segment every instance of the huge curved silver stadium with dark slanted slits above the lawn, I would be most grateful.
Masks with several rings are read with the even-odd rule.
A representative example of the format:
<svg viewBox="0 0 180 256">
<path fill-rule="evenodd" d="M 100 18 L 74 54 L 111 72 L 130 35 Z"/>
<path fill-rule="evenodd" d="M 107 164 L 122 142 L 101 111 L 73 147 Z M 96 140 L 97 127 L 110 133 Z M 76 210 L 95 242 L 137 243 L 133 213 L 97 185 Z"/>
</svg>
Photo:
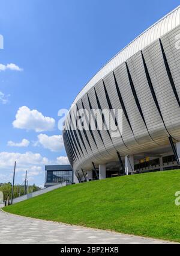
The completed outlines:
<svg viewBox="0 0 180 256">
<path fill-rule="evenodd" d="M 113 57 L 79 93 L 63 131 L 79 181 L 178 169 L 179 35 L 180 7 Z M 90 123 L 89 130 L 73 130 L 71 122 L 80 109 L 122 110 L 121 136 L 92 130 Z M 101 119 L 104 122 L 103 114 Z"/>
</svg>

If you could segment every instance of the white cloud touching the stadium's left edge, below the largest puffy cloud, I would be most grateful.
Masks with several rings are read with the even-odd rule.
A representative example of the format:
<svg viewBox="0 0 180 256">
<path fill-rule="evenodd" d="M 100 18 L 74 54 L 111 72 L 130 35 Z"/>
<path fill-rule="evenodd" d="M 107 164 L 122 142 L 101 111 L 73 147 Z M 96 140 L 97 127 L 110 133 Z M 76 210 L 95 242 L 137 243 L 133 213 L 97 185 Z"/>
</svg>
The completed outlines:
<svg viewBox="0 0 180 256">
<path fill-rule="evenodd" d="M 52 152 L 61 151 L 64 148 L 62 135 L 47 136 L 46 134 L 38 135 L 38 142 L 35 146 L 42 145 L 43 148 L 50 149 Z"/>
</svg>

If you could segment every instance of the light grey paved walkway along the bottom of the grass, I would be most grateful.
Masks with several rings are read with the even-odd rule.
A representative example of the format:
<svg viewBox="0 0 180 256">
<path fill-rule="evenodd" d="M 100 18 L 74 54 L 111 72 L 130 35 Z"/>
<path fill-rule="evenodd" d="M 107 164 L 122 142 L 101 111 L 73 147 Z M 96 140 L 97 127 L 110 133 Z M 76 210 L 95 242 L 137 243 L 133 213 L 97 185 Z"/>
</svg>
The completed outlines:
<svg viewBox="0 0 180 256">
<path fill-rule="evenodd" d="M 160 240 L 15 216 L 0 210 L 0 244 L 155 244 Z"/>
</svg>

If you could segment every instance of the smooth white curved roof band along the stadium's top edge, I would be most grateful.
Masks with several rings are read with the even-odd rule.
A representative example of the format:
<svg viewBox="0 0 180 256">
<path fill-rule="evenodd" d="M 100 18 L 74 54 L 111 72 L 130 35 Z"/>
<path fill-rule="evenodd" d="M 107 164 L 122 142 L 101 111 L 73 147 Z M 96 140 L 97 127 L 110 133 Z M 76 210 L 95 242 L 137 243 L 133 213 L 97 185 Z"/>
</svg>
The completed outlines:
<svg viewBox="0 0 180 256">
<path fill-rule="evenodd" d="M 136 52 L 150 45 L 152 42 L 168 33 L 173 28 L 180 24 L 180 6 L 175 10 L 171 11 L 169 14 L 159 20 L 157 23 L 148 28 L 144 33 L 140 34 L 139 37 L 133 40 L 128 46 L 122 49 L 115 57 L 112 58 L 82 89 L 82 91 L 77 95 L 73 104 L 82 98 L 82 96 L 91 89 L 99 80 L 106 76 L 109 72 L 114 70 L 116 67 L 121 65 L 124 61 L 128 60 L 131 56 L 136 54 Z"/>
</svg>

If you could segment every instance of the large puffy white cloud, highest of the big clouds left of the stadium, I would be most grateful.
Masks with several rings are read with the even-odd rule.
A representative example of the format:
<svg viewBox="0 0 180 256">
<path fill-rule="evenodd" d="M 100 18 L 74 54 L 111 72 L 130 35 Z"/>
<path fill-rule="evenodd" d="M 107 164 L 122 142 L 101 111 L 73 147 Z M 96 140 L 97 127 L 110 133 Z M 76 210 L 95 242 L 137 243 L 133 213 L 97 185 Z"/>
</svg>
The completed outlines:
<svg viewBox="0 0 180 256">
<path fill-rule="evenodd" d="M 14 128 L 34 130 L 37 133 L 52 131 L 55 128 L 55 119 L 45 117 L 38 110 L 30 110 L 28 107 L 20 107 L 13 122 Z"/>
</svg>

